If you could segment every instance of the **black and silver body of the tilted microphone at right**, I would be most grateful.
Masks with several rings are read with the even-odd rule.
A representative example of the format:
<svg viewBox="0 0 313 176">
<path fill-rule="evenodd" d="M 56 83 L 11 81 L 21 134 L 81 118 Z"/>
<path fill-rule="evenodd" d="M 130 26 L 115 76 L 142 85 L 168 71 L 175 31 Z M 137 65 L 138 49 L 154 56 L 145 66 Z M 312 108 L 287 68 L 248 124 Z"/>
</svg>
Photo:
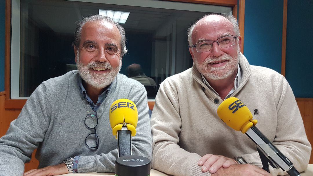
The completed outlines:
<svg viewBox="0 0 313 176">
<path fill-rule="evenodd" d="M 269 172 L 270 164 L 273 168 L 281 168 L 290 176 L 300 176 L 293 163 L 256 126 L 249 128 L 246 134 L 256 144 L 264 170 Z"/>
</svg>

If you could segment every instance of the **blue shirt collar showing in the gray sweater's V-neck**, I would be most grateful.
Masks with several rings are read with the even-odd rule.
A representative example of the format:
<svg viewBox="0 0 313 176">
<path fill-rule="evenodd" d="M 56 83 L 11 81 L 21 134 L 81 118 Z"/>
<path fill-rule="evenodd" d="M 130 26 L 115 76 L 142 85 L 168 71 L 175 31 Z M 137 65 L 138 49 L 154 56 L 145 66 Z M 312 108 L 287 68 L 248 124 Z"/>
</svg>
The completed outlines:
<svg viewBox="0 0 313 176">
<path fill-rule="evenodd" d="M 103 102 L 103 100 L 106 98 L 106 96 L 108 95 L 110 88 L 111 88 L 111 84 L 98 96 L 98 101 L 95 104 L 91 98 L 87 95 L 86 89 L 83 86 L 83 82 L 82 82 L 82 78 L 79 77 L 78 78 L 78 83 L 80 85 L 82 94 L 84 96 L 84 98 L 88 101 L 90 107 L 96 112 L 98 110 L 98 108 L 100 107 L 101 103 Z"/>
</svg>

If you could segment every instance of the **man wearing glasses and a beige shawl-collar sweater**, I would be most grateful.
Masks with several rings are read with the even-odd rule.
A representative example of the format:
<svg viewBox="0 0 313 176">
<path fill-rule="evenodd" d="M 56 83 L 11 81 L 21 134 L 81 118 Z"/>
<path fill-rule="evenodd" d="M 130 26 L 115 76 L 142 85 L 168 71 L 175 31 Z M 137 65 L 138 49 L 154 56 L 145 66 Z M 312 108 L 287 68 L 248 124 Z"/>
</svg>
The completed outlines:
<svg viewBox="0 0 313 176">
<path fill-rule="evenodd" d="M 216 113 L 226 98 L 237 97 L 260 131 L 304 171 L 311 146 L 293 92 L 279 73 L 249 65 L 236 19 L 204 16 L 189 29 L 188 42 L 193 67 L 164 80 L 156 95 L 152 168 L 177 176 L 270 175 L 254 143 Z"/>
</svg>

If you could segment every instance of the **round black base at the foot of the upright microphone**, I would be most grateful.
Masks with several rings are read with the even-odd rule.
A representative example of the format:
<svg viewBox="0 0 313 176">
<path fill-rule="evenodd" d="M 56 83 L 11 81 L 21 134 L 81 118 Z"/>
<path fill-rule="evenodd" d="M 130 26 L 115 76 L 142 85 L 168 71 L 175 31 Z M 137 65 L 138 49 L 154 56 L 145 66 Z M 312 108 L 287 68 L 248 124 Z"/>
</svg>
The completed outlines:
<svg viewBox="0 0 313 176">
<path fill-rule="evenodd" d="M 151 161 L 137 155 L 125 155 L 115 160 L 115 176 L 149 176 Z"/>
</svg>

